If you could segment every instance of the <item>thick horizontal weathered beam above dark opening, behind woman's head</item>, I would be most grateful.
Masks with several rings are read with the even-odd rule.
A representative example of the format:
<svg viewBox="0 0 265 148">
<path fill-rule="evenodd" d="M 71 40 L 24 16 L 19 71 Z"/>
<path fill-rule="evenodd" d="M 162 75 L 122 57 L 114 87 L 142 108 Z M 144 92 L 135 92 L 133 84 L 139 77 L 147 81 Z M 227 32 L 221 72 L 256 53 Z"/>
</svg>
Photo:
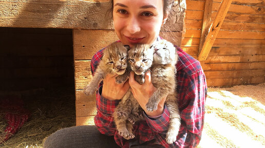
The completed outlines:
<svg viewBox="0 0 265 148">
<path fill-rule="evenodd" d="M 114 29 L 107 15 L 110 0 L 2 0 L 0 6 L 0 27 Z M 173 7 L 165 24 L 169 31 L 183 30 L 178 9 Z"/>
</svg>

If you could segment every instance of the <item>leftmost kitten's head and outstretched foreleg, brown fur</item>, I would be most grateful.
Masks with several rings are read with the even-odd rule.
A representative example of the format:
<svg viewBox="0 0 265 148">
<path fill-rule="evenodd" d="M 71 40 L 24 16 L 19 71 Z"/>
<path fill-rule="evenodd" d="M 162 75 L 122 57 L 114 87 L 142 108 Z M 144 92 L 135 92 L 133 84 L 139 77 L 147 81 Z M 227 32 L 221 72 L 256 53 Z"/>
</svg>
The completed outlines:
<svg viewBox="0 0 265 148">
<path fill-rule="evenodd" d="M 121 42 L 114 42 L 107 46 L 103 51 L 102 60 L 99 63 L 96 72 L 90 83 L 84 88 L 87 95 L 93 94 L 99 87 L 99 83 L 107 74 L 128 75 L 125 71 L 127 68 L 127 51 L 129 46 Z M 119 76 L 118 76 L 119 77 Z M 124 78 L 124 77 L 123 77 Z M 121 79 L 122 80 L 122 79 Z M 125 79 L 126 80 L 126 79 Z"/>
</svg>

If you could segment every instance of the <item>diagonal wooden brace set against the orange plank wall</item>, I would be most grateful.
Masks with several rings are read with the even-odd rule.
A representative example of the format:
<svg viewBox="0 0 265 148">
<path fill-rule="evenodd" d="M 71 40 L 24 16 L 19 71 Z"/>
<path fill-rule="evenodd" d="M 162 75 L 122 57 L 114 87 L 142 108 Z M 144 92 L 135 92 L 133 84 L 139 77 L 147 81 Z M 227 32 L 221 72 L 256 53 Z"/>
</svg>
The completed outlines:
<svg viewBox="0 0 265 148">
<path fill-rule="evenodd" d="M 211 29 L 203 43 L 202 50 L 199 54 L 198 60 L 205 61 L 211 51 L 211 48 L 214 44 L 214 41 L 217 37 L 217 34 L 222 26 L 223 20 L 228 12 L 228 9 L 231 5 L 232 0 L 223 0 L 221 6 L 217 12 L 217 15 L 214 19 L 214 22 L 211 26 Z"/>
</svg>

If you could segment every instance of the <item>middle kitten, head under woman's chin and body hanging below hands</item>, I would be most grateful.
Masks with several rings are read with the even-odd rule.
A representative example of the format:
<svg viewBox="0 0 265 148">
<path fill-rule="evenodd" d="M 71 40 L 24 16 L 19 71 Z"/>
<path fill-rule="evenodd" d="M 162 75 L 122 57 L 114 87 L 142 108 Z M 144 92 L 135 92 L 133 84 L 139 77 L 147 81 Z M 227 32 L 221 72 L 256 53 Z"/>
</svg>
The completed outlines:
<svg viewBox="0 0 265 148">
<path fill-rule="evenodd" d="M 137 75 L 135 75 L 135 80 L 140 84 L 144 82 L 145 71 L 152 65 L 153 53 L 154 48 L 147 44 L 135 45 L 128 51 L 130 68 L 136 72 Z M 131 69 L 128 69 L 128 71 L 131 71 Z M 122 83 L 121 79 L 122 77 L 117 78 L 116 82 Z M 113 113 L 119 135 L 123 136 L 125 139 L 135 138 L 133 134 L 133 124 L 138 120 L 144 119 L 142 114 L 142 108 L 129 89 Z"/>
</svg>

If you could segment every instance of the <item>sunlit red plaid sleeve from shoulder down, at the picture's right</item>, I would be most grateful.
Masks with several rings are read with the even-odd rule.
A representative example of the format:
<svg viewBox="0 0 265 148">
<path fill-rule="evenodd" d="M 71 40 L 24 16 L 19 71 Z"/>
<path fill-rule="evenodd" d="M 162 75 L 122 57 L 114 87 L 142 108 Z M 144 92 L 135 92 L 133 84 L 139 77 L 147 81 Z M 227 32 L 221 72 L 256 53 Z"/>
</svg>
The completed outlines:
<svg viewBox="0 0 265 148">
<path fill-rule="evenodd" d="M 178 147 L 195 147 L 203 129 L 206 79 L 199 61 L 182 50 L 179 56 L 177 68 L 182 67 L 182 70 L 177 72 L 177 92 L 181 126 L 175 144 Z"/>
</svg>

